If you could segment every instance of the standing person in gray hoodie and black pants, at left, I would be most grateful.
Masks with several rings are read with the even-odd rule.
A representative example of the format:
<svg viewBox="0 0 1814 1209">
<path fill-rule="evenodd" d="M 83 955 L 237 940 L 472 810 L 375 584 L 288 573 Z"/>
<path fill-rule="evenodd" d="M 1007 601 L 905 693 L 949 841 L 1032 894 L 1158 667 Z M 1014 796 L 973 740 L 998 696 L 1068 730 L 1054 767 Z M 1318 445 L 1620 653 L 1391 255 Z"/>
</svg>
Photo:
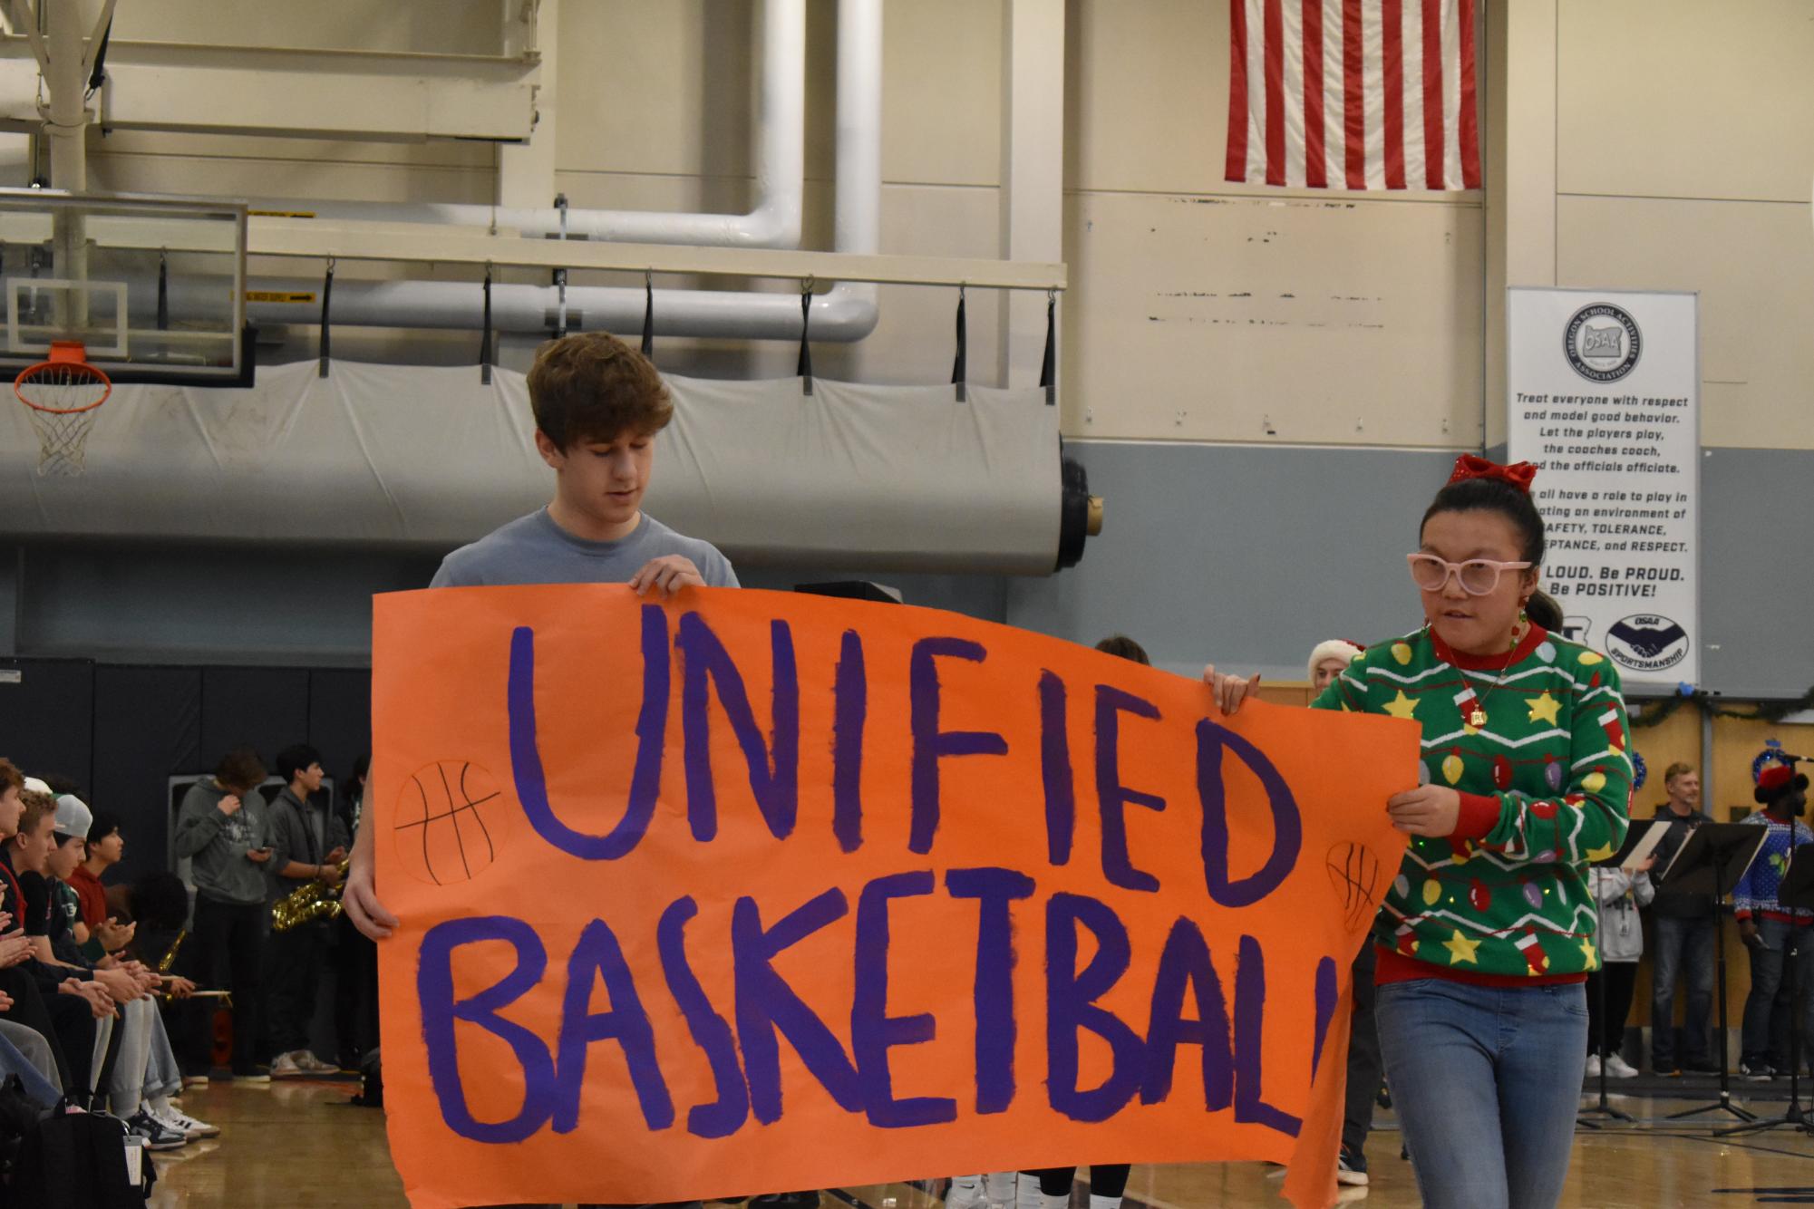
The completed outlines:
<svg viewBox="0 0 1814 1209">
<path fill-rule="evenodd" d="M 196 977 L 232 991 L 232 1077 L 249 1082 L 270 1082 L 270 1068 L 258 1062 L 270 919 L 265 866 L 272 854 L 258 792 L 263 779 L 258 752 L 236 747 L 221 756 L 212 778 L 189 787 L 176 814 L 176 856 L 189 857 L 196 885 Z"/>
</svg>

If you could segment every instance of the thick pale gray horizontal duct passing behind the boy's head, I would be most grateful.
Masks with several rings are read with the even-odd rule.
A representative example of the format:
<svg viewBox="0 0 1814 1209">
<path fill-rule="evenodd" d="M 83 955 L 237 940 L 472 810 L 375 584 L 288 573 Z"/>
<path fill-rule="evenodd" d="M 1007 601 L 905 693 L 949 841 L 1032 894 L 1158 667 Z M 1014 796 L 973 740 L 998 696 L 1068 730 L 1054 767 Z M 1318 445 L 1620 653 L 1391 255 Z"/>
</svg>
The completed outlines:
<svg viewBox="0 0 1814 1209">
<path fill-rule="evenodd" d="M 1050 575 L 1081 553 L 1039 388 L 669 377 L 649 511 L 744 564 Z M 250 390 L 118 386 L 87 473 L 0 421 L 0 537 L 452 547 L 546 504 L 524 377 L 314 363 Z"/>
</svg>

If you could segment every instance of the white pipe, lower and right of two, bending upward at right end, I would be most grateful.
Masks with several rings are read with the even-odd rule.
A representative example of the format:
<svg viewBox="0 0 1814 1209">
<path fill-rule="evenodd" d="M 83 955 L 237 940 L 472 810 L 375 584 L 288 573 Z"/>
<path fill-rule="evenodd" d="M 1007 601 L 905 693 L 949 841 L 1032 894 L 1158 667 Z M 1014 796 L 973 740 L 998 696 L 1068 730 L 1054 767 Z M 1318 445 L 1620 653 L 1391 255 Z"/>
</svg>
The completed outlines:
<svg viewBox="0 0 1814 1209">
<path fill-rule="evenodd" d="M 296 203 L 279 203 L 296 208 Z M 486 208 L 486 207 L 481 207 Z M 575 212 L 577 214 L 577 212 Z M 882 243 L 882 0 L 838 0 L 838 163 L 836 252 L 876 252 Z M 174 286 L 176 283 L 172 283 Z M 308 292 L 317 279 L 265 277 L 250 292 Z M 644 294 L 624 286 L 566 290 L 570 330 L 640 328 Z M 181 299 L 172 295 L 172 306 Z M 493 285 L 492 326 L 501 332 L 546 332 L 553 326 L 551 286 Z M 254 323 L 310 323 L 294 303 L 247 303 Z M 346 326 L 461 328 L 483 323 L 477 285 L 448 281 L 336 279 L 332 321 Z M 813 299 L 813 339 L 860 341 L 878 321 L 874 283 L 842 281 Z M 657 290 L 655 330 L 660 335 L 724 339 L 800 339 L 800 297 L 733 290 Z"/>
</svg>

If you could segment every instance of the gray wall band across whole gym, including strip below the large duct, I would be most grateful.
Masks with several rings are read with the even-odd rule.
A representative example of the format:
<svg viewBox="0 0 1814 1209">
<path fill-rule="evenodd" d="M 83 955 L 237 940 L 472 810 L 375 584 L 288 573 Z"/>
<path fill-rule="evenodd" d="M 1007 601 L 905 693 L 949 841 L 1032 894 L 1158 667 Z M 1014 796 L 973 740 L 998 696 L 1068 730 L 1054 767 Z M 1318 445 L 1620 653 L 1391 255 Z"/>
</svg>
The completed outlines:
<svg viewBox="0 0 1814 1209">
<path fill-rule="evenodd" d="M 1404 551 L 1453 453 L 1156 442 L 1067 451 L 1108 500 L 1081 566 L 1050 578 L 873 578 L 902 587 L 909 604 L 1076 642 L 1121 631 L 1186 674 L 1217 660 L 1295 680 L 1321 638 L 1364 642 L 1419 624 Z M 1702 471 L 1705 683 L 1734 698 L 1799 696 L 1814 683 L 1814 560 L 1796 546 L 1814 533 L 1814 453 L 1712 450 Z M 359 665 L 370 658 L 370 593 L 419 587 L 437 562 L 252 546 L 31 546 L 13 585 L 18 651 Z M 858 576 L 753 567 L 744 582 L 787 589 L 820 578 Z M 0 609 L 9 604 L 0 584 Z"/>
</svg>

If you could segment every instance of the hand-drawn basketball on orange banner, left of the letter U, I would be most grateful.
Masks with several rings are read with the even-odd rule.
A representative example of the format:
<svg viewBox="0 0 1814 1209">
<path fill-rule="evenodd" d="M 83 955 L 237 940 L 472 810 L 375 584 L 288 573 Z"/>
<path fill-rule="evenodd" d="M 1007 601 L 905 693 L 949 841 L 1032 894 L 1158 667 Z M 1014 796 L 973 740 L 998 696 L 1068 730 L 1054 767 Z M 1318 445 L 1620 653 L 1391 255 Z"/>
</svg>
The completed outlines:
<svg viewBox="0 0 1814 1209">
<path fill-rule="evenodd" d="M 483 765 L 437 759 L 397 790 L 392 832 L 403 868 L 435 886 L 472 881 L 497 861 L 519 814 Z"/>
</svg>

